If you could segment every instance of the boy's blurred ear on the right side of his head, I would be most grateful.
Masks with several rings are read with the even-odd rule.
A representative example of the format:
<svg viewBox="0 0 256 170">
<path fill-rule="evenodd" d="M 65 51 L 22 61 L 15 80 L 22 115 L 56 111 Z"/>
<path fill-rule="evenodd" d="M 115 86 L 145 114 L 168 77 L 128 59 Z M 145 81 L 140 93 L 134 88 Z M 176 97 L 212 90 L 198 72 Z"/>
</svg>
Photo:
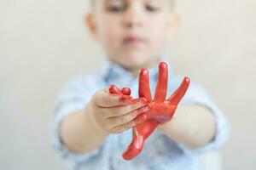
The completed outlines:
<svg viewBox="0 0 256 170">
<path fill-rule="evenodd" d="M 178 26 L 180 25 L 180 15 L 174 13 L 170 16 L 168 21 L 168 40 L 171 40 L 175 32 L 177 31 Z"/>
</svg>

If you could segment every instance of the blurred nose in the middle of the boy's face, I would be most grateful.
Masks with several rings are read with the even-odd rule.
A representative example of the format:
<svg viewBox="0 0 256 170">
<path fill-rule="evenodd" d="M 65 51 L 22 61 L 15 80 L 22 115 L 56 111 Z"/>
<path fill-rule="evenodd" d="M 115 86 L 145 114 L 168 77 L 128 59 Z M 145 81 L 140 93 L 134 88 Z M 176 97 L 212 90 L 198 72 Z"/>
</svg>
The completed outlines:
<svg viewBox="0 0 256 170">
<path fill-rule="evenodd" d="M 124 25 L 126 27 L 143 26 L 143 8 L 138 1 L 132 1 L 125 11 Z"/>
</svg>

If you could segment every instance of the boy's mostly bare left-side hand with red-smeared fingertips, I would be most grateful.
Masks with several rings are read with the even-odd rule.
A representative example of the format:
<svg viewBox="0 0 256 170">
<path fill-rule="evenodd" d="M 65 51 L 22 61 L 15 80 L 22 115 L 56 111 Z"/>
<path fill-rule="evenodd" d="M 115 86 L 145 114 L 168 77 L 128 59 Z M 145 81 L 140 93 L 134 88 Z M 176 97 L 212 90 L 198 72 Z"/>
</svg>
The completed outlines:
<svg viewBox="0 0 256 170">
<path fill-rule="evenodd" d="M 130 94 L 130 88 L 114 86 L 97 92 L 90 102 L 90 120 L 105 134 L 122 133 L 146 121 L 142 115 L 150 109 L 146 99 L 133 99 Z"/>
</svg>

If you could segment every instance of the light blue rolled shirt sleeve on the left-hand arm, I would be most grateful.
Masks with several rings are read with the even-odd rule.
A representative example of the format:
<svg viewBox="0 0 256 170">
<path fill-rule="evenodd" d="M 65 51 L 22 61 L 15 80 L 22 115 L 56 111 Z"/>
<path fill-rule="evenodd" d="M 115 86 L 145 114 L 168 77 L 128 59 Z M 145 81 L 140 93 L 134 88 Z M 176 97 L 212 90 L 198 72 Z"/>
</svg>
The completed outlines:
<svg viewBox="0 0 256 170">
<path fill-rule="evenodd" d="M 83 109 L 84 105 L 90 101 L 90 97 L 94 92 L 94 90 L 90 88 L 90 83 L 90 81 L 84 82 L 82 77 L 74 78 L 72 81 L 65 84 L 55 101 L 55 110 L 50 128 L 52 145 L 53 148 L 61 154 L 62 158 L 73 162 L 88 161 L 98 156 L 102 150 L 101 146 L 85 154 L 73 153 L 62 143 L 59 133 L 60 123 L 63 118 L 72 114 L 73 111 Z"/>
</svg>

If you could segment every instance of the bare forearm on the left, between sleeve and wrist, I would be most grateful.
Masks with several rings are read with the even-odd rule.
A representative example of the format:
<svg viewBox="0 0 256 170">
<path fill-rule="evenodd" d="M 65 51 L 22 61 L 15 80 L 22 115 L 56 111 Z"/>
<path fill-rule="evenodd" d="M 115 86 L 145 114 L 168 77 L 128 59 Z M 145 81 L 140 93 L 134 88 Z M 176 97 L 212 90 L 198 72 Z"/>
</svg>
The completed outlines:
<svg viewBox="0 0 256 170">
<path fill-rule="evenodd" d="M 61 122 L 61 139 L 69 150 L 76 153 L 96 150 L 108 136 L 95 127 L 90 114 L 90 105 L 87 105 L 84 110 L 70 114 Z"/>
</svg>

